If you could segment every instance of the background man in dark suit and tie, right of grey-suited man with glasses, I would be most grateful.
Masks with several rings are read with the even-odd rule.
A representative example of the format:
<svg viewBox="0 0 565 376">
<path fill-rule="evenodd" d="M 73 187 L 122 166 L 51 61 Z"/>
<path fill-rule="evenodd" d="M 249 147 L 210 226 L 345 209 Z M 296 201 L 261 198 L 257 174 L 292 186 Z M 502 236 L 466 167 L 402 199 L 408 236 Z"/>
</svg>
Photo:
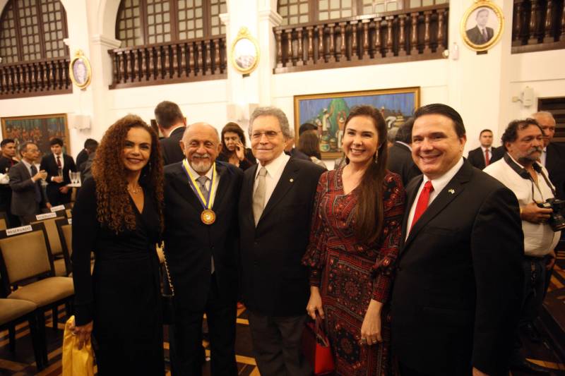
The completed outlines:
<svg viewBox="0 0 565 376">
<path fill-rule="evenodd" d="M 71 183 L 69 171 L 76 172 L 73 157 L 63 153 L 63 140 L 52 138 L 49 141 L 52 154 L 41 159 L 40 169 L 47 171 L 47 198 L 52 206 L 71 202 Z"/>
</svg>

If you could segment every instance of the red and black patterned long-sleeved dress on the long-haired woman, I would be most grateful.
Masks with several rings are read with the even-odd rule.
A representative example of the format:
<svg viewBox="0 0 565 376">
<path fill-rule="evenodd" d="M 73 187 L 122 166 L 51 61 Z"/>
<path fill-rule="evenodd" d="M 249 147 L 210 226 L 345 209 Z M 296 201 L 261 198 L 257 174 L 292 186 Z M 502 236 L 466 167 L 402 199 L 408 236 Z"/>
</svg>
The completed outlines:
<svg viewBox="0 0 565 376">
<path fill-rule="evenodd" d="M 310 267 L 310 284 L 319 286 L 326 333 L 335 359 L 335 375 L 391 375 L 390 327 L 383 309 L 383 343 L 359 345 L 369 301 L 388 301 L 393 265 L 398 255 L 405 192 L 400 176 L 385 179 L 383 235 L 375 243 L 355 236 L 355 205 L 359 188 L 343 192 L 343 169 L 320 176 L 310 243 L 302 262 Z"/>
</svg>

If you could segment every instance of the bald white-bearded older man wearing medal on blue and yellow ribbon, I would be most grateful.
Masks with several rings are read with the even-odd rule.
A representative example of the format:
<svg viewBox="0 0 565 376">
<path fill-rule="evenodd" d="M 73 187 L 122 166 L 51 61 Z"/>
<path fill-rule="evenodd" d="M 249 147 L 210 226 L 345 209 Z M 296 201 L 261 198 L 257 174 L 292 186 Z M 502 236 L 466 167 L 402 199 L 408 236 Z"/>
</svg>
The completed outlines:
<svg viewBox="0 0 565 376">
<path fill-rule="evenodd" d="M 222 144 L 207 123 L 186 128 L 186 157 L 165 166 L 165 257 L 174 286 L 173 375 L 201 375 L 202 320 L 211 375 L 237 375 L 237 202 L 243 172 L 216 162 Z"/>
</svg>

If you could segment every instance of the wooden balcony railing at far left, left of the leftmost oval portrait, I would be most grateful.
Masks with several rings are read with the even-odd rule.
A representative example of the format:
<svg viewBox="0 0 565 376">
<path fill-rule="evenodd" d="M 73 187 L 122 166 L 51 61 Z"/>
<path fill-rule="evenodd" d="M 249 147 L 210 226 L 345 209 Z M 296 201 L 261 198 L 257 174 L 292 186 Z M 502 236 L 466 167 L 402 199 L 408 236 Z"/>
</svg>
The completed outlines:
<svg viewBox="0 0 565 376">
<path fill-rule="evenodd" d="M 0 99 L 73 92 L 69 57 L 0 64 Z"/>
</svg>

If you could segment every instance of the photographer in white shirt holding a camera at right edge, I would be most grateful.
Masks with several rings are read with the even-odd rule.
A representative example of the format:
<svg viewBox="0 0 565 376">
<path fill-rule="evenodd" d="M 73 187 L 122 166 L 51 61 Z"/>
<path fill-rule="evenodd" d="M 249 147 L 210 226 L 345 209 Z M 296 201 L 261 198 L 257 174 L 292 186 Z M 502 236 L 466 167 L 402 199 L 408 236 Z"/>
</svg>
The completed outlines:
<svg viewBox="0 0 565 376">
<path fill-rule="evenodd" d="M 539 341 L 533 321 L 542 308 L 547 270 L 555 262 L 554 248 L 559 241 L 559 229 L 564 225 L 562 205 L 554 201 L 555 188 L 547 178 L 545 167 L 537 162 L 543 150 L 543 136 L 534 119 L 511 121 L 502 135 L 504 158 L 484 169 L 511 189 L 520 203 L 525 253 L 520 325 L 533 341 Z M 518 356 L 517 350 L 511 363 L 513 370 L 536 375 L 546 373 L 544 368 Z"/>
</svg>

